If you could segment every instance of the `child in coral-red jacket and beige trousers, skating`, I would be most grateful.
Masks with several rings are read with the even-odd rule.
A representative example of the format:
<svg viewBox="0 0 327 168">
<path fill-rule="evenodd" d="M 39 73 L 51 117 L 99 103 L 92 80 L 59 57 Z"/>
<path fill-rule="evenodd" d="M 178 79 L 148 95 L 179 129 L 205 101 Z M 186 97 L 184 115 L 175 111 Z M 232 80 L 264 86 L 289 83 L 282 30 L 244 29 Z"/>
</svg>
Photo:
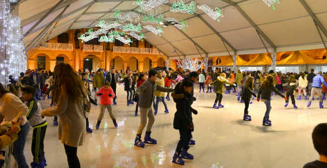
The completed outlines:
<svg viewBox="0 0 327 168">
<path fill-rule="evenodd" d="M 100 102 L 100 115 L 98 117 L 98 123 L 96 125 L 97 130 L 100 127 L 100 123 L 102 119 L 104 118 L 105 111 L 108 109 L 110 118 L 113 122 L 113 125 L 115 127 L 118 126 L 116 119 L 112 113 L 112 104 L 111 104 L 111 98 L 114 98 L 115 94 L 113 93 L 112 88 L 110 87 L 109 82 L 105 82 L 104 86 L 101 87 L 101 89 L 97 92 L 97 96 L 101 96 L 101 102 Z"/>
</svg>

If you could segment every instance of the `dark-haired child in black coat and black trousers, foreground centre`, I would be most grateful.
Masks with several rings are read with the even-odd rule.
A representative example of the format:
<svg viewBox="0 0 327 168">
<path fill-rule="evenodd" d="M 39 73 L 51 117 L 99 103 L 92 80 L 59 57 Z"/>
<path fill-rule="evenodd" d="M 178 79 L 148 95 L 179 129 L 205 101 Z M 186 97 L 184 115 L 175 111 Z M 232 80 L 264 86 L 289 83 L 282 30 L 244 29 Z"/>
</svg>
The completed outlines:
<svg viewBox="0 0 327 168">
<path fill-rule="evenodd" d="M 194 131 L 192 112 L 191 109 L 191 97 L 193 83 L 189 80 L 183 80 L 182 83 L 178 83 L 171 94 L 174 102 L 176 103 L 176 113 L 174 117 L 173 126 L 174 129 L 179 130 L 180 140 L 177 144 L 176 151 L 172 157 L 172 163 L 178 165 L 184 165 L 183 159 L 194 159 L 193 155 L 187 153 L 189 142 L 191 140 L 191 132 Z M 175 94 L 176 93 L 176 94 Z"/>
</svg>

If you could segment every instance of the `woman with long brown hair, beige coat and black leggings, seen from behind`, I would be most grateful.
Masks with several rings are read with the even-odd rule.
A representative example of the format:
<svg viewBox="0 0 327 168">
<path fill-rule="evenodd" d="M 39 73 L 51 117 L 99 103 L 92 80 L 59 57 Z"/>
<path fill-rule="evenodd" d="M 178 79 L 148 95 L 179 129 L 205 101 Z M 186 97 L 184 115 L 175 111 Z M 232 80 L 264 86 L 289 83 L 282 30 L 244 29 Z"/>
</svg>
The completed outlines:
<svg viewBox="0 0 327 168">
<path fill-rule="evenodd" d="M 83 97 L 87 96 L 82 81 L 69 64 L 54 67 L 54 107 L 42 111 L 41 116 L 58 116 L 58 139 L 63 143 L 69 168 L 80 168 L 77 147 L 85 141 L 86 120 Z"/>
</svg>

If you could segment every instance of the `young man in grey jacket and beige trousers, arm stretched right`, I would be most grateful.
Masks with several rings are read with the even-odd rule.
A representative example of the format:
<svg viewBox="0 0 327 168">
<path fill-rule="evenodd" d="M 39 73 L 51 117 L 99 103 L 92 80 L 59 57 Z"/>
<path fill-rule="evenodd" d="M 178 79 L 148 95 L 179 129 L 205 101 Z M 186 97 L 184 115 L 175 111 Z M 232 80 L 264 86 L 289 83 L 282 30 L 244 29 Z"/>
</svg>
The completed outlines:
<svg viewBox="0 0 327 168">
<path fill-rule="evenodd" d="M 152 103 L 155 98 L 155 92 L 172 92 L 172 88 L 162 87 L 161 85 L 156 83 L 158 72 L 155 70 L 149 71 L 149 78 L 139 87 L 137 87 L 135 91 L 134 101 L 139 102 L 140 107 L 140 116 L 141 123 L 137 130 L 135 143 L 134 145 L 137 147 L 144 148 L 145 143 L 148 144 L 157 144 L 157 140 L 151 138 L 151 129 L 153 124 L 155 123 L 155 115 L 153 113 Z M 149 119 L 149 123 L 147 126 L 147 119 Z M 147 126 L 144 143 L 141 140 L 141 135 L 144 127 Z"/>
</svg>

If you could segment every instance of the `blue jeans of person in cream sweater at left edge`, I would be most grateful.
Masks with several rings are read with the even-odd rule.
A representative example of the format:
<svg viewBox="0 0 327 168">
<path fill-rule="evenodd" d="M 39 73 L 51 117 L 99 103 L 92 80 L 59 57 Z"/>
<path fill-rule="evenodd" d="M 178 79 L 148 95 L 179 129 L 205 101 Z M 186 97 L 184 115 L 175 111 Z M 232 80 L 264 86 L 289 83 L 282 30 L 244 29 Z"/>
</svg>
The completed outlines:
<svg viewBox="0 0 327 168">
<path fill-rule="evenodd" d="M 20 126 L 18 132 L 18 138 L 12 143 L 13 145 L 13 156 L 18 164 L 18 168 L 26 168 L 26 159 L 24 156 L 24 147 L 28 133 L 30 132 L 30 124 L 25 123 L 24 126 Z"/>
</svg>

